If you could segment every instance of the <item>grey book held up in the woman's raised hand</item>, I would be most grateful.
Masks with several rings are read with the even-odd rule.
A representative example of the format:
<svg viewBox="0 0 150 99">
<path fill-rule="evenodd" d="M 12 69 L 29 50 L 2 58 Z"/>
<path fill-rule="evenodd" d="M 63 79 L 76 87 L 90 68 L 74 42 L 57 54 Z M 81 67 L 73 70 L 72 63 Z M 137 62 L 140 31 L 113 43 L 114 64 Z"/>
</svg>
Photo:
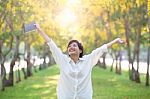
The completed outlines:
<svg viewBox="0 0 150 99">
<path fill-rule="evenodd" d="M 29 33 L 31 31 L 35 31 L 37 28 L 35 26 L 35 22 L 32 21 L 31 23 L 24 24 L 24 33 Z"/>
</svg>

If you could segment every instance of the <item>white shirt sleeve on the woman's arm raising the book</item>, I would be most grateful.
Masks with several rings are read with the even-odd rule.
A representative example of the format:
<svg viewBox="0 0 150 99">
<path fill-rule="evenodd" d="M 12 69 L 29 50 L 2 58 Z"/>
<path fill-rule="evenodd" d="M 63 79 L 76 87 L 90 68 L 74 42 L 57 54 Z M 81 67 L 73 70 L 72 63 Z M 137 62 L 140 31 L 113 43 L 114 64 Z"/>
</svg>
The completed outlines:
<svg viewBox="0 0 150 99">
<path fill-rule="evenodd" d="M 60 66 L 61 61 L 63 59 L 62 57 L 64 56 L 64 54 L 62 53 L 61 49 L 57 47 L 57 45 L 55 44 L 55 42 L 52 39 L 49 40 L 47 42 L 47 44 L 50 47 L 50 51 L 52 52 L 54 60 Z"/>
</svg>

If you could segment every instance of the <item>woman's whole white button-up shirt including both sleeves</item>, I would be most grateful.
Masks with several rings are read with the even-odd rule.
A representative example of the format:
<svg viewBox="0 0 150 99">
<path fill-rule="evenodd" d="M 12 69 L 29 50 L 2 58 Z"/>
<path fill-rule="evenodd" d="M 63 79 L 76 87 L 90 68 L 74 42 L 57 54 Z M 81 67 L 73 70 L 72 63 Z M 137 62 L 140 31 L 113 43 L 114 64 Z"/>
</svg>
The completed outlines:
<svg viewBox="0 0 150 99">
<path fill-rule="evenodd" d="M 95 49 L 91 54 L 79 58 L 77 63 L 56 46 L 53 40 L 48 42 L 56 63 L 60 67 L 60 78 L 57 85 L 58 99 L 92 99 L 93 89 L 91 71 L 104 52 L 107 45 Z"/>
</svg>

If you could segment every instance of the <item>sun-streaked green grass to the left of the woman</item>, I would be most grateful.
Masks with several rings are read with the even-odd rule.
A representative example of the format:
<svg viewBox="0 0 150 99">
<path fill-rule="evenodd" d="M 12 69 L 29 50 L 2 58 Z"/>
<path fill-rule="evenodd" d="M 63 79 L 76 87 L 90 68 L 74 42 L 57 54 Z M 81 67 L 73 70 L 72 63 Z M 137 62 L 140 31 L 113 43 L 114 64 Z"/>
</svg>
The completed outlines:
<svg viewBox="0 0 150 99">
<path fill-rule="evenodd" d="M 51 70 L 53 69 L 48 68 L 40 71 L 14 87 L 6 88 L 4 92 L 0 92 L 0 99 L 57 99 L 58 71 Z"/>
</svg>

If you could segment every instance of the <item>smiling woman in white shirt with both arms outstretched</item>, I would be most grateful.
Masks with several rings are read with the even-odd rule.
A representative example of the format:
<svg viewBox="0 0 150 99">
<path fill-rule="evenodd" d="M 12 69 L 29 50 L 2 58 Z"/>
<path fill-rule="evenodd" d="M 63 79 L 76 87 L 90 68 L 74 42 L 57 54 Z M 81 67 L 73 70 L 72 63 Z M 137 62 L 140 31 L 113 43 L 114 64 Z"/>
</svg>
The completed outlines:
<svg viewBox="0 0 150 99">
<path fill-rule="evenodd" d="M 53 54 L 56 63 L 60 68 L 60 78 L 57 86 L 58 99 L 92 99 L 92 68 L 98 62 L 103 53 L 107 52 L 107 48 L 114 43 L 124 43 L 123 40 L 117 38 L 108 44 L 95 49 L 89 55 L 83 56 L 83 46 L 77 40 L 71 40 L 67 46 L 68 55 L 56 46 L 40 28 L 35 24 L 40 35 L 46 40 Z"/>
</svg>

